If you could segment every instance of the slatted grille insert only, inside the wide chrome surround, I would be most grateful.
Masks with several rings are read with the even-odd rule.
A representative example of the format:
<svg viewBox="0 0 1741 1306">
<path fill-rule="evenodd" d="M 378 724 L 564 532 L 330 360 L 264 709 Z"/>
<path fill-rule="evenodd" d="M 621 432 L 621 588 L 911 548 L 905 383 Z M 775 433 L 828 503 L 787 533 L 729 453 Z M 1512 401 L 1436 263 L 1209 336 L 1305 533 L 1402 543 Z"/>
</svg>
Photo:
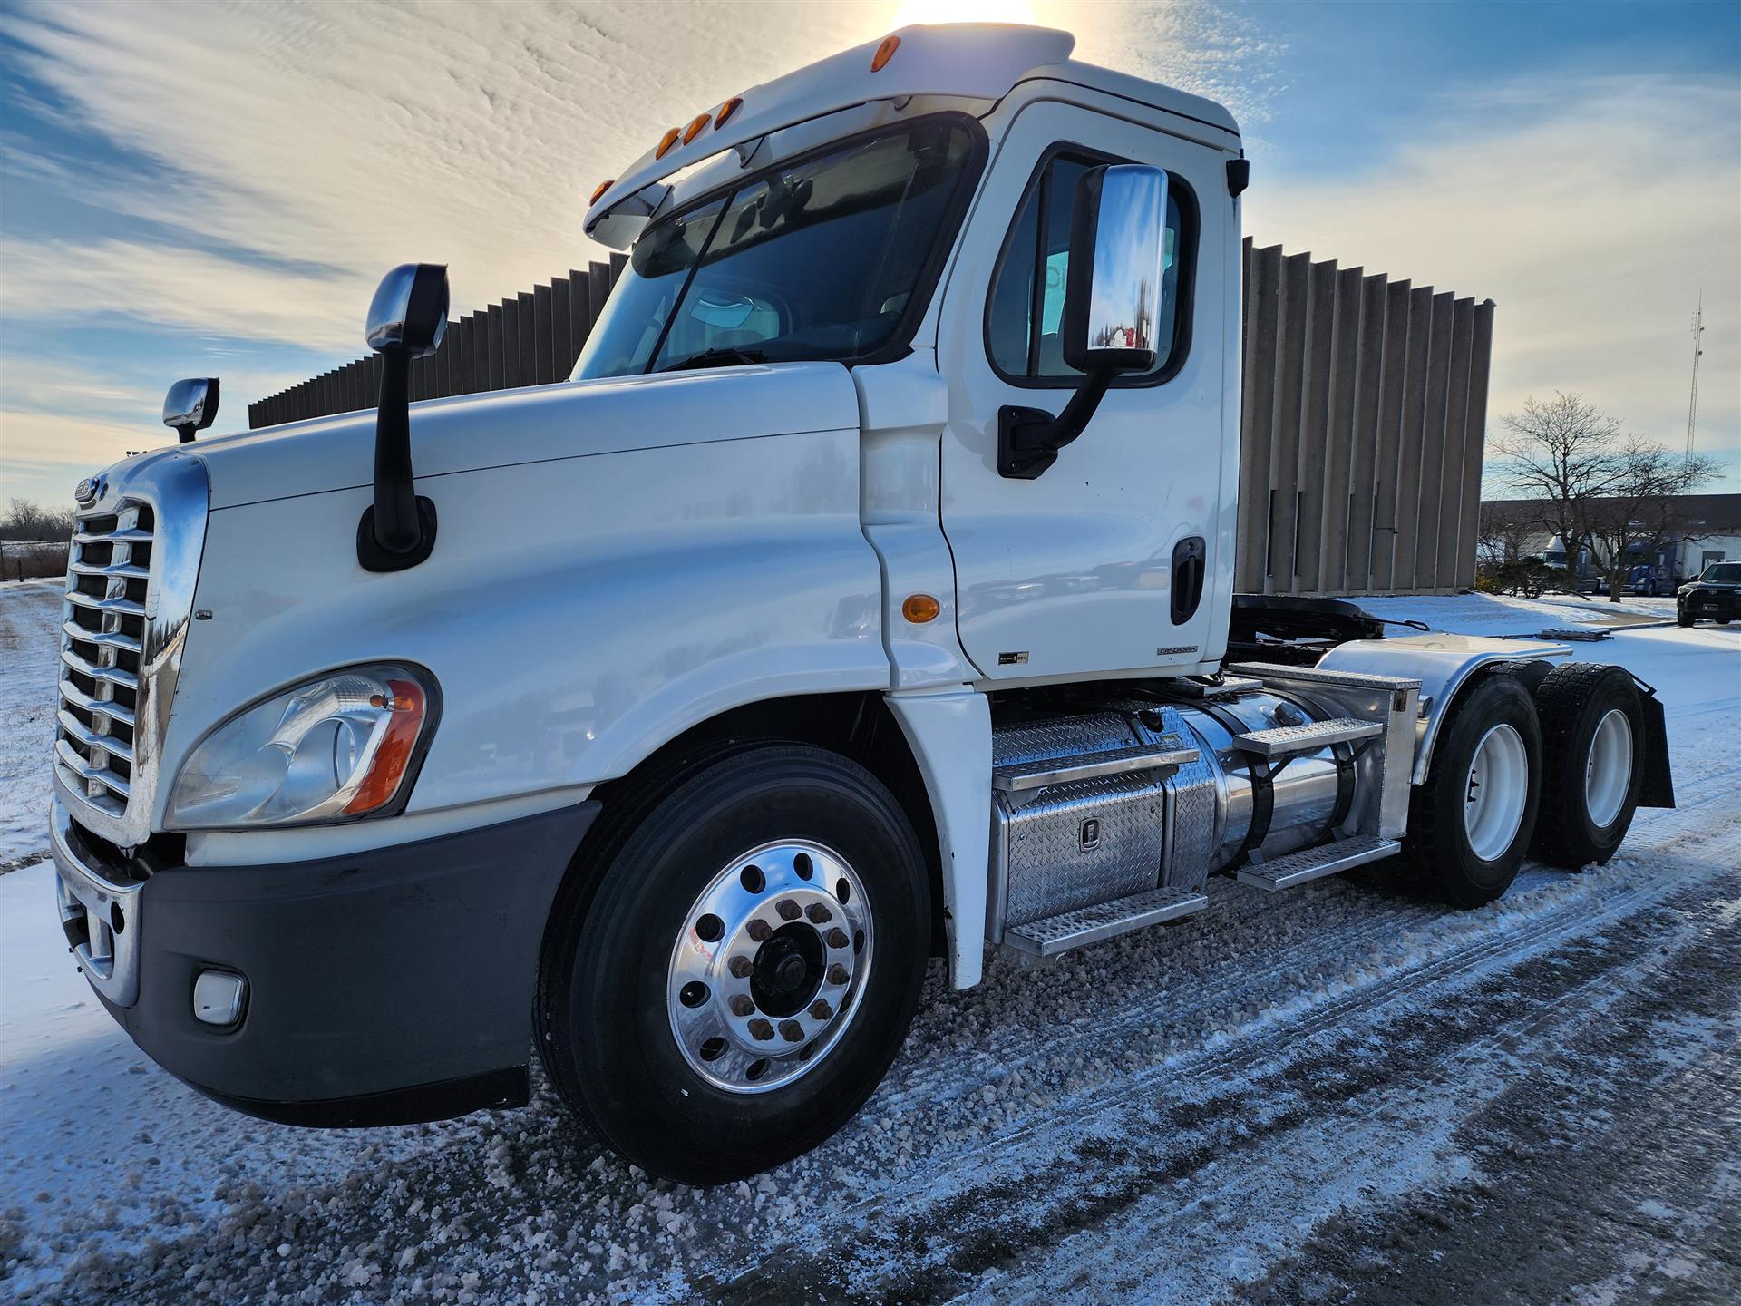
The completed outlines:
<svg viewBox="0 0 1741 1306">
<path fill-rule="evenodd" d="M 111 817 L 124 817 L 132 796 L 155 528 L 151 505 L 129 498 L 82 514 L 66 564 L 54 759 L 70 787 Z"/>
</svg>

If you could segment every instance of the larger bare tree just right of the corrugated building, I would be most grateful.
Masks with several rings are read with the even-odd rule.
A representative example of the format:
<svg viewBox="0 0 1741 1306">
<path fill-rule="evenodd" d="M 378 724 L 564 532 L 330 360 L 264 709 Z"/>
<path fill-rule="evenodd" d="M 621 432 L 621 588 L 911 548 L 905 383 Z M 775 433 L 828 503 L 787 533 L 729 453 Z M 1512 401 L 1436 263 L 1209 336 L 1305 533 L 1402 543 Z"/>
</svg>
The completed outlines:
<svg viewBox="0 0 1741 1306">
<path fill-rule="evenodd" d="M 1522 413 L 1502 416 L 1494 441 L 1499 479 L 1518 498 L 1534 500 L 1536 524 L 1560 536 L 1567 564 L 1576 568 L 1590 540 L 1590 500 L 1609 495 L 1619 468 L 1614 461 L 1624 441 L 1619 418 L 1610 418 L 1583 395 L 1523 401 Z"/>
</svg>

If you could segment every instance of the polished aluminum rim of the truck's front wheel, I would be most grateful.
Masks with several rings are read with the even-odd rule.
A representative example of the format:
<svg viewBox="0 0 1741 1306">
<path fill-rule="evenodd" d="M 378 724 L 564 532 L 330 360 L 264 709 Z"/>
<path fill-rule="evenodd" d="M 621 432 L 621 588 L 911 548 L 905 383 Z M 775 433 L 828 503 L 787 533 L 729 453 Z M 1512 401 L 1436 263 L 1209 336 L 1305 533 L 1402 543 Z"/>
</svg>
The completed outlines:
<svg viewBox="0 0 1741 1306">
<path fill-rule="evenodd" d="M 665 1006 L 716 1088 L 764 1094 L 822 1064 L 870 975 L 870 907 L 839 853 L 783 839 L 731 860 L 689 905 Z"/>
</svg>

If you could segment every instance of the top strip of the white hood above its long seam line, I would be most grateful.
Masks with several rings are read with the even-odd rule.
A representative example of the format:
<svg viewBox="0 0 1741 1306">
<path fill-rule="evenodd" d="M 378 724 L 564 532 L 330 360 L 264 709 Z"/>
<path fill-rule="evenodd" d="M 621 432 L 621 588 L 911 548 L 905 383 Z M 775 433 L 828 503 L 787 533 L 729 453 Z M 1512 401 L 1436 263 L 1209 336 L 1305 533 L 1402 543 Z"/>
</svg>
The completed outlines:
<svg viewBox="0 0 1741 1306">
<path fill-rule="evenodd" d="M 857 427 L 843 366 L 789 362 L 428 399 L 411 406 L 411 461 L 421 484 L 486 467 Z M 369 486 L 374 409 L 200 439 L 181 453 L 205 461 L 214 510 Z"/>
</svg>

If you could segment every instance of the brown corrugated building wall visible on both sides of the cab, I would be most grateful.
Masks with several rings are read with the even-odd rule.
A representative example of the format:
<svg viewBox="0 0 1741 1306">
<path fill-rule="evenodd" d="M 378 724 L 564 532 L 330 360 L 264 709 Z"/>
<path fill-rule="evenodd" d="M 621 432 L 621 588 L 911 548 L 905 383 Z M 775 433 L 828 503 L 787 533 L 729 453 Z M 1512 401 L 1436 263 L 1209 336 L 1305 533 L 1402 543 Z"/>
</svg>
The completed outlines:
<svg viewBox="0 0 1741 1306">
<path fill-rule="evenodd" d="M 590 263 L 447 324 L 411 397 L 562 380 L 625 265 Z M 1245 242 L 1238 587 L 1447 594 L 1475 583 L 1494 303 Z M 247 409 L 275 427 L 371 407 L 359 359 Z"/>
</svg>

